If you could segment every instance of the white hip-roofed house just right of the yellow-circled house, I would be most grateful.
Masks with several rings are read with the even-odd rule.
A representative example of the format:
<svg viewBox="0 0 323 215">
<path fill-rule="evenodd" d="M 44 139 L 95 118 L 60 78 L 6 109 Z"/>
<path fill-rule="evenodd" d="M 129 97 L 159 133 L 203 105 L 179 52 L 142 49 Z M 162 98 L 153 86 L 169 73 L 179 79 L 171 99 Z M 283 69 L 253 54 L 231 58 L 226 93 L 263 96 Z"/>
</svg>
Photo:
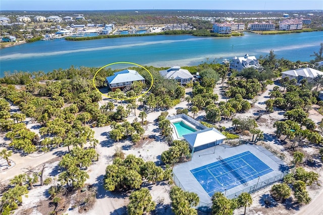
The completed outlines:
<svg viewBox="0 0 323 215">
<path fill-rule="evenodd" d="M 175 79 L 181 84 L 187 84 L 193 80 L 193 75 L 185 69 L 181 69 L 179 66 L 172 67 L 168 70 L 160 70 L 159 74 L 166 79 Z"/>
</svg>

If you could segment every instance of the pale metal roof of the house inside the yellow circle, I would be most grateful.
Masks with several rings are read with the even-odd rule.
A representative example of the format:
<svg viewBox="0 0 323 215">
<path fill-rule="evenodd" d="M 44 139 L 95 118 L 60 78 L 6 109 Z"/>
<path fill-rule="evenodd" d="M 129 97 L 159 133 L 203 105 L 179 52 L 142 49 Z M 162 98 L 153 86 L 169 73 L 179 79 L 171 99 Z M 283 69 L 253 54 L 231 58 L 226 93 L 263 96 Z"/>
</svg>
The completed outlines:
<svg viewBox="0 0 323 215">
<path fill-rule="evenodd" d="M 145 79 L 135 70 L 123 70 L 115 72 L 112 76 L 106 77 L 106 80 L 109 84 L 116 84 L 129 81 L 142 81 Z"/>
</svg>

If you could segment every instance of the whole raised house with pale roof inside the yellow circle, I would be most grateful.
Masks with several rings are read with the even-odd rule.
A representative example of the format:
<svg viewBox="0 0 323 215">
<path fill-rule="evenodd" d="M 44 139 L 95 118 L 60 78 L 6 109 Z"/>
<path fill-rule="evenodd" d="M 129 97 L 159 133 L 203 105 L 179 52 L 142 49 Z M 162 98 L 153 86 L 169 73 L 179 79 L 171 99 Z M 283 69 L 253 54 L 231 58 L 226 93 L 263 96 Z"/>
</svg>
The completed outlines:
<svg viewBox="0 0 323 215">
<path fill-rule="evenodd" d="M 116 91 L 116 89 L 123 90 L 134 81 L 142 81 L 144 83 L 145 79 L 135 70 L 122 70 L 105 78 L 105 83 L 107 83 L 113 92 Z"/>
</svg>

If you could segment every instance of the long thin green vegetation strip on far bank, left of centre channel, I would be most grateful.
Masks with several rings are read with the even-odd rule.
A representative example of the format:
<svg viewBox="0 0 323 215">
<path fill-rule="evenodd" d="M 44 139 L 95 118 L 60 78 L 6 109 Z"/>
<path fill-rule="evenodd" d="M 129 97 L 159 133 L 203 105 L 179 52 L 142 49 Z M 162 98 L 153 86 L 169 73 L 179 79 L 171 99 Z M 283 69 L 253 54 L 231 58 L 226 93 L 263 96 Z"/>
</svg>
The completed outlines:
<svg viewBox="0 0 323 215">
<path fill-rule="evenodd" d="M 212 33 L 208 30 L 173 30 L 164 31 L 158 33 L 146 33 L 146 34 L 114 34 L 114 35 L 98 35 L 91 37 L 65 37 L 66 40 L 90 40 L 90 39 L 103 39 L 103 38 L 116 38 L 116 37 L 131 37 L 131 36 L 154 36 L 154 35 L 176 35 L 176 34 L 191 34 L 193 36 L 214 36 L 214 37 L 230 37 L 241 36 L 243 33 L 232 34 L 218 34 Z"/>
</svg>

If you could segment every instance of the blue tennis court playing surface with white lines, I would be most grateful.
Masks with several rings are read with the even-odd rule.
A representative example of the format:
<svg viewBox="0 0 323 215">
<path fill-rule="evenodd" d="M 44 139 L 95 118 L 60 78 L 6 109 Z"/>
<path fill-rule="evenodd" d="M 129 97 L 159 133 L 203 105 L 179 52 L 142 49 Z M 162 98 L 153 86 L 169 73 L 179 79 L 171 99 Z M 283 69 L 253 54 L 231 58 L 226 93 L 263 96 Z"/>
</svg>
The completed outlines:
<svg viewBox="0 0 323 215">
<path fill-rule="evenodd" d="M 207 194 L 224 192 L 248 181 L 273 172 L 250 151 L 245 151 L 218 162 L 195 168 L 190 171 Z"/>
</svg>

